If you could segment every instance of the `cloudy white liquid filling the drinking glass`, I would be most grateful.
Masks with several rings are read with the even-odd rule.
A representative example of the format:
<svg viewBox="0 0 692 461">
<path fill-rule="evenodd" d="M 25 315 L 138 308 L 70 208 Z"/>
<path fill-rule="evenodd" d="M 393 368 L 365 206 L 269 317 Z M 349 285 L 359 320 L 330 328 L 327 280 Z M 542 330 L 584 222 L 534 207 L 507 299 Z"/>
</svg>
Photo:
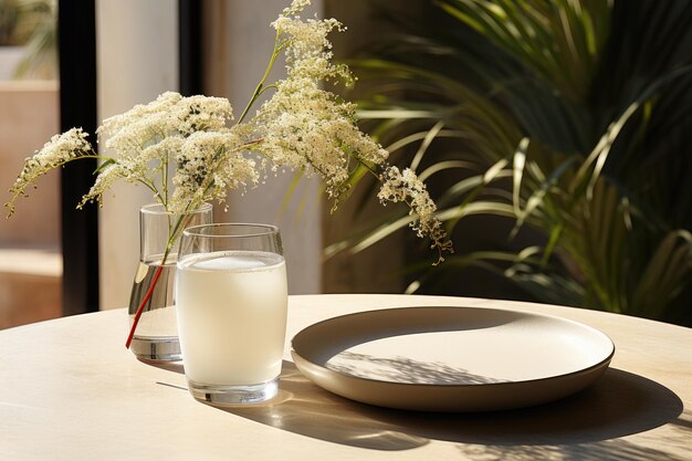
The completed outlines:
<svg viewBox="0 0 692 461">
<path fill-rule="evenodd" d="M 178 335 L 189 379 L 255 385 L 281 374 L 287 286 L 283 256 L 191 254 L 178 262 Z"/>
</svg>

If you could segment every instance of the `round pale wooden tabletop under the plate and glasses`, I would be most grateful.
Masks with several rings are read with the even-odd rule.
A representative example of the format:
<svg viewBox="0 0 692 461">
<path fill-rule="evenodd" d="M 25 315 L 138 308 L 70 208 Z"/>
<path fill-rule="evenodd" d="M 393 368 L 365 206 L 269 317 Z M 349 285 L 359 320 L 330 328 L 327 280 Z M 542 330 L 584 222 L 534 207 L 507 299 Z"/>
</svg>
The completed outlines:
<svg viewBox="0 0 692 461">
<path fill-rule="evenodd" d="M 290 338 L 336 315 L 473 306 L 558 315 L 606 333 L 610 368 L 539 407 L 416 413 L 334 396 L 291 362 Z M 403 295 L 291 296 L 281 390 L 218 409 L 186 390 L 180 366 L 125 349 L 125 310 L 0 332 L 2 460 L 692 460 L 692 329 L 541 304 Z"/>
</svg>

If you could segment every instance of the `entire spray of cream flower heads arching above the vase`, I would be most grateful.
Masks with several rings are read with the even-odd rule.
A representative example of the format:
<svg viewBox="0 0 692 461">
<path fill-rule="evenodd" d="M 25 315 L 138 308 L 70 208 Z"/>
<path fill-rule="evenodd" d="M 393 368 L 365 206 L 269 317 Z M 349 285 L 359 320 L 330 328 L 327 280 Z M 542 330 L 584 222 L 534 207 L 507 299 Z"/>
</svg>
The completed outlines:
<svg viewBox="0 0 692 461">
<path fill-rule="evenodd" d="M 379 198 L 407 203 L 417 217 L 415 229 L 440 251 L 451 251 L 436 206 L 410 170 L 387 164 L 388 153 L 356 125 L 355 106 L 323 88 L 326 81 L 345 84 L 353 76 L 332 63 L 327 35 L 344 28 L 334 20 L 303 20 L 310 0 L 294 0 L 272 27 L 276 30 L 268 70 L 238 121 L 221 97 L 184 97 L 165 93 L 156 101 L 104 121 L 97 129 L 104 155 L 96 154 L 81 129 L 54 137 L 32 158 L 11 189 L 10 213 L 19 196 L 40 176 L 77 158 L 102 165 L 92 189 L 78 207 L 101 203 L 116 181 L 141 184 L 172 212 L 203 201 L 223 201 L 229 190 L 256 186 L 268 171 L 291 168 L 317 174 L 327 195 L 338 202 L 358 166 L 382 182 Z M 277 55 L 286 61 L 286 77 L 266 83 Z M 272 96 L 249 116 L 265 91 Z M 113 154 L 113 155 L 112 155 Z M 175 174 L 169 177 L 175 166 Z"/>
</svg>

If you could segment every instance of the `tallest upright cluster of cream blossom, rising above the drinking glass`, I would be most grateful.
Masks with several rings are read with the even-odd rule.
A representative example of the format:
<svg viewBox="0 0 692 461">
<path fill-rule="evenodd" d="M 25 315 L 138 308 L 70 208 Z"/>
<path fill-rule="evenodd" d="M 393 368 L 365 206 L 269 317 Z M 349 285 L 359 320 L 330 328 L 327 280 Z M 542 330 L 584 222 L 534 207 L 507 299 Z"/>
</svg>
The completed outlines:
<svg viewBox="0 0 692 461">
<path fill-rule="evenodd" d="M 302 11 L 294 2 L 292 13 Z M 350 83 L 346 66 L 331 63 L 327 34 L 342 30 L 336 20 L 302 21 L 284 11 L 272 24 L 285 46 L 287 77 L 250 122 L 263 143 L 258 148 L 275 165 L 287 165 L 324 180 L 326 192 L 338 199 L 346 190 L 352 158 L 379 165 L 387 151 L 363 134 L 355 124 L 355 106 L 322 88 L 322 82 L 340 78 Z"/>
</svg>

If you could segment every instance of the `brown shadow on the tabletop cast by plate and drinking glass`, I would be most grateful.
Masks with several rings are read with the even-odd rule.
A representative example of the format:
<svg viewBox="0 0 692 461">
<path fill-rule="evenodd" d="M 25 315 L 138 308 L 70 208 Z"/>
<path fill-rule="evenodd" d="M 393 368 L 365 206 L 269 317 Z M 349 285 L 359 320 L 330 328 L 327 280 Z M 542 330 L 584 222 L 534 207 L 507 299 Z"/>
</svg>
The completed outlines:
<svg viewBox="0 0 692 461">
<path fill-rule="evenodd" d="M 284 362 L 280 394 L 266 404 L 224 411 L 294 433 L 377 450 L 407 450 L 444 440 L 485 447 L 564 446 L 607 441 L 674 421 L 670 389 L 609 368 L 591 387 L 538 407 L 487 413 L 424 413 L 367 406 L 333 395 Z M 637 458 L 626 458 L 637 459 Z"/>
</svg>

